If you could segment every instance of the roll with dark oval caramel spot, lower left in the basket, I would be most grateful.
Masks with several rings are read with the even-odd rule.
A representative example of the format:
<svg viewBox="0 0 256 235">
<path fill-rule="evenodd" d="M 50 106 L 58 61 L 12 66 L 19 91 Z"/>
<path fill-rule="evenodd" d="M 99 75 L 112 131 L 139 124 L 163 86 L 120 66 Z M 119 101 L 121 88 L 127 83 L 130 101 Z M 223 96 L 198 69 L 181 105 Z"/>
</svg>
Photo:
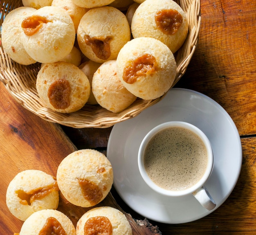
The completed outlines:
<svg viewBox="0 0 256 235">
<path fill-rule="evenodd" d="M 56 112 L 70 113 L 81 109 L 88 101 L 90 82 L 81 69 L 59 61 L 41 67 L 36 90 L 47 107 Z"/>
</svg>

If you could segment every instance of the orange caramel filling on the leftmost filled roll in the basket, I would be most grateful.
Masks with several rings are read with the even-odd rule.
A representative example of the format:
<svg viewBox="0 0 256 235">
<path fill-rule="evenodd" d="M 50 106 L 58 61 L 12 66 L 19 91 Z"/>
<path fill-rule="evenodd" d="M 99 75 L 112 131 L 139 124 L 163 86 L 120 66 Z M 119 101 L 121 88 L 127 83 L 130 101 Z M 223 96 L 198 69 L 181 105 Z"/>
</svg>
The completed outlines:
<svg viewBox="0 0 256 235">
<path fill-rule="evenodd" d="M 44 16 L 29 16 L 22 21 L 21 27 L 27 36 L 32 36 L 43 26 L 43 24 L 48 22 L 52 21 L 47 20 Z"/>
</svg>

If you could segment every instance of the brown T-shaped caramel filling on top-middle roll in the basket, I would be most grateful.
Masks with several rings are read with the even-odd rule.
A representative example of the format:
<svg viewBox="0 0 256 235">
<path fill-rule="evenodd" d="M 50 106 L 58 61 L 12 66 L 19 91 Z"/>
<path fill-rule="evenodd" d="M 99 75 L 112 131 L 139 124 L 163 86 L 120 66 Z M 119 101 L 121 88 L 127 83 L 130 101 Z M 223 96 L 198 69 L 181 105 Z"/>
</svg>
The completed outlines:
<svg viewBox="0 0 256 235">
<path fill-rule="evenodd" d="M 92 47 L 94 54 L 102 60 L 107 60 L 110 57 L 110 41 L 111 37 L 92 37 L 89 35 L 85 36 L 85 43 Z"/>
</svg>

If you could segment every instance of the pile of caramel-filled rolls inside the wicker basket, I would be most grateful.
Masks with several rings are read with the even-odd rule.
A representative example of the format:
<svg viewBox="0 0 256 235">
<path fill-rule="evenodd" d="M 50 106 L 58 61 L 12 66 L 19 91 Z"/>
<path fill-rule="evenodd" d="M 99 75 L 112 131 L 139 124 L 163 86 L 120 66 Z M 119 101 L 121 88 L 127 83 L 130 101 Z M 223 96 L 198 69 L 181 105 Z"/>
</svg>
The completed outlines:
<svg viewBox="0 0 256 235">
<path fill-rule="evenodd" d="M 172 87 L 173 54 L 188 34 L 175 1 L 22 2 L 5 17 L 2 46 L 17 63 L 42 63 L 36 89 L 45 107 L 70 113 L 87 103 L 121 112 Z"/>
</svg>

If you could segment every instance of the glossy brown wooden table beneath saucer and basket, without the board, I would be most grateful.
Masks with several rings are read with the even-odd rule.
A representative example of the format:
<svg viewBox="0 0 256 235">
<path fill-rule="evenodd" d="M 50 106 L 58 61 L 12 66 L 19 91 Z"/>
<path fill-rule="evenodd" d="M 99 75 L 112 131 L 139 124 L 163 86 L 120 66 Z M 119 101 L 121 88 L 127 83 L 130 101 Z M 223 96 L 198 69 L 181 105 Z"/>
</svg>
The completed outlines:
<svg viewBox="0 0 256 235">
<path fill-rule="evenodd" d="M 234 120 L 243 148 L 238 183 L 213 213 L 186 224 L 161 224 L 164 234 L 256 234 L 256 1 L 201 0 L 202 23 L 192 61 L 175 87 L 196 90 L 217 101 Z M 112 128 L 63 127 L 78 148 L 106 151 Z M 141 218 L 115 194 L 118 204 Z"/>
</svg>

